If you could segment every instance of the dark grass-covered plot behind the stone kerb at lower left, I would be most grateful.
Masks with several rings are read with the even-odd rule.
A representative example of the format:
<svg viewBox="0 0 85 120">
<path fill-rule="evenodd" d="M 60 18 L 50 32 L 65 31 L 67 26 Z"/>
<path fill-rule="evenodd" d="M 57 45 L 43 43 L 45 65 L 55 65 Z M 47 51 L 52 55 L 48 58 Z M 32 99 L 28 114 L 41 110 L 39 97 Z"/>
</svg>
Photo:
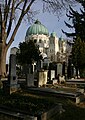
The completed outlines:
<svg viewBox="0 0 85 120">
<path fill-rule="evenodd" d="M 30 115 L 37 115 L 39 112 L 49 110 L 55 103 L 44 97 L 17 92 L 11 95 L 0 94 L 0 105 L 4 105 L 9 109 L 24 111 Z"/>
</svg>

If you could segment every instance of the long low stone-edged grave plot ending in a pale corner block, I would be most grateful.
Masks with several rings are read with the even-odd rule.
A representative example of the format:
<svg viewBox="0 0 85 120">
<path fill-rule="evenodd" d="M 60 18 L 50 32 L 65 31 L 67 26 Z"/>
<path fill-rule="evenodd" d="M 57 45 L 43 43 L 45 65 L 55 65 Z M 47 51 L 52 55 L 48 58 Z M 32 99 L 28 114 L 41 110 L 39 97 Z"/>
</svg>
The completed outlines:
<svg viewBox="0 0 85 120">
<path fill-rule="evenodd" d="M 76 104 L 79 104 L 82 100 L 84 100 L 84 94 L 81 92 L 77 92 L 76 90 L 65 89 L 61 90 L 62 88 L 28 88 L 28 91 L 35 94 L 42 94 L 45 96 L 55 96 L 61 98 L 69 98 L 73 100 Z M 69 91 L 68 91 L 69 90 Z"/>
</svg>

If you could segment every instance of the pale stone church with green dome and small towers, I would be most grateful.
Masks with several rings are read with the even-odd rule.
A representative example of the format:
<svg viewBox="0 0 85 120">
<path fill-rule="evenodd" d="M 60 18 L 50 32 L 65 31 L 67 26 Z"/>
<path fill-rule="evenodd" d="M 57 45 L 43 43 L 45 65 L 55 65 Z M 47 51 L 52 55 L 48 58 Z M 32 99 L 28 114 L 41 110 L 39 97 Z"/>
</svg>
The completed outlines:
<svg viewBox="0 0 85 120">
<path fill-rule="evenodd" d="M 33 40 L 38 46 L 44 58 L 49 62 L 65 62 L 67 52 L 67 41 L 62 37 L 58 38 L 55 32 L 49 35 L 48 29 L 36 20 L 31 25 L 25 36 L 25 41 Z"/>
</svg>

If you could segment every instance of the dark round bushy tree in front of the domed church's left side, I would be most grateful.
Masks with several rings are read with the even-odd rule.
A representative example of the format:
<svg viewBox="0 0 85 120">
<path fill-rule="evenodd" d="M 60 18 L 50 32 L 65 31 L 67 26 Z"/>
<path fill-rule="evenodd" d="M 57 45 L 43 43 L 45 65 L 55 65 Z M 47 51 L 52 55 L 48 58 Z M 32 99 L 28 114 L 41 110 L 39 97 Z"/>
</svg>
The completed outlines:
<svg viewBox="0 0 85 120">
<path fill-rule="evenodd" d="M 19 50 L 17 52 L 18 64 L 28 65 L 39 59 L 42 59 L 39 48 L 32 40 L 19 44 Z"/>
</svg>

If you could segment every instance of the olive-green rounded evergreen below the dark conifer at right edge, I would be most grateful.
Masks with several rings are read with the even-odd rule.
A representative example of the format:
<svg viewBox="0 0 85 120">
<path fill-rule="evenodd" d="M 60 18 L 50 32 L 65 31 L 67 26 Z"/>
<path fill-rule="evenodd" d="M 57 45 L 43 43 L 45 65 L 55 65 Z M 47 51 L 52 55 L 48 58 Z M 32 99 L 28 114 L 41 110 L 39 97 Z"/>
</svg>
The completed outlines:
<svg viewBox="0 0 85 120">
<path fill-rule="evenodd" d="M 80 72 L 81 77 L 85 77 L 85 41 L 79 37 L 72 47 L 72 63 L 76 70 Z"/>
</svg>

